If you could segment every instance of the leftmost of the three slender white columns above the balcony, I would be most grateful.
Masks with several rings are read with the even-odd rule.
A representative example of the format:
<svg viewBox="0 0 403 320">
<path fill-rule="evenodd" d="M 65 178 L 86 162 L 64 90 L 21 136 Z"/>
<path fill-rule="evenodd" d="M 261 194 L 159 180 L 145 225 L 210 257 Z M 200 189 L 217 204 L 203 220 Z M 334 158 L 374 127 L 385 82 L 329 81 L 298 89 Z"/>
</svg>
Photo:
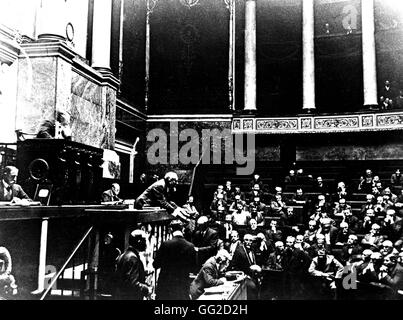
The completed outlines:
<svg viewBox="0 0 403 320">
<path fill-rule="evenodd" d="M 256 0 L 245 2 L 245 107 L 256 110 Z"/>
</svg>

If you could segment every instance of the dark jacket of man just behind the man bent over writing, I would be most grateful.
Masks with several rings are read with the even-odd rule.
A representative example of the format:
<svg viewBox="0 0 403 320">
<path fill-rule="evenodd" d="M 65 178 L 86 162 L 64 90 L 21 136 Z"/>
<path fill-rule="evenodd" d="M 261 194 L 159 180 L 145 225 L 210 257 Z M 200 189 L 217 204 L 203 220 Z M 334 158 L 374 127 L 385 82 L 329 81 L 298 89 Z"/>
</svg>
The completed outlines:
<svg viewBox="0 0 403 320">
<path fill-rule="evenodd" d="M 198 267 L 216 254 L 217 242 L 218 232 L 212 228 L 207 228 L 204 234 L 200 230 L 194 233 L 192 243 L 199 249 L 197 252 Z"/>
</svg>

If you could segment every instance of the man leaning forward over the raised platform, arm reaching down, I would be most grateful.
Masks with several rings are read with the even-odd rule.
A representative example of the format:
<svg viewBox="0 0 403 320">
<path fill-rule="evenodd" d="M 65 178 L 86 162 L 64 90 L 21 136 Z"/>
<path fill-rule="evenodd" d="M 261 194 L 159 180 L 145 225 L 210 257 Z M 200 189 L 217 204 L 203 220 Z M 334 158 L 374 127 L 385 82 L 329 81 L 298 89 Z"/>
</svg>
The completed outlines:
<svg viewBox="0 0 403 320">
<path fill-rule="evenodd" d="M 175 172 L 168 172 L 165 174 L 164 179 L 154 182 L 144 190 L 136 199 L 136 208 L 142 209 L 144 206 L 161 207 L 178 218 L 188 220 L 189 214 L 186 210 L 170 200 L 173 193 L 176 192 L 177 183 L 178 175 Z"/>
</svg>

